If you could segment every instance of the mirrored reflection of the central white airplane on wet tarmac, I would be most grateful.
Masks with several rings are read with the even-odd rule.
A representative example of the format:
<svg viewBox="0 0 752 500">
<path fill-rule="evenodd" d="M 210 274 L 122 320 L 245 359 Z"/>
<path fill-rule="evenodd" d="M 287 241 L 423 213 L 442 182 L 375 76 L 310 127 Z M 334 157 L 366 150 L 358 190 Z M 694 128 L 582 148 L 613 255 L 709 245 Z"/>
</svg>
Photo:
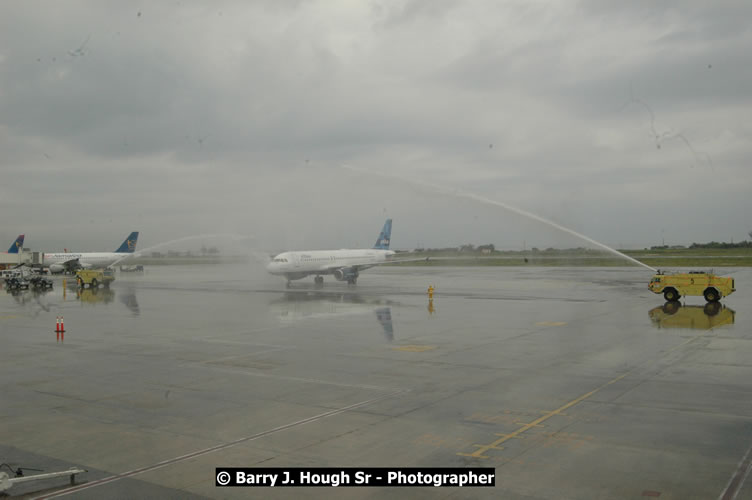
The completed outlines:
<svg viewBox="0 0 752 500">
<path fill-rule="evenodd" d="M 355 292 L 295 291 L 285 292 L 269 302 L 269 308 L 282 323 L 301 320 L 376 314 L 387 340 L 394 340 L 391 301 L 366 298 Z"/>
</svg>

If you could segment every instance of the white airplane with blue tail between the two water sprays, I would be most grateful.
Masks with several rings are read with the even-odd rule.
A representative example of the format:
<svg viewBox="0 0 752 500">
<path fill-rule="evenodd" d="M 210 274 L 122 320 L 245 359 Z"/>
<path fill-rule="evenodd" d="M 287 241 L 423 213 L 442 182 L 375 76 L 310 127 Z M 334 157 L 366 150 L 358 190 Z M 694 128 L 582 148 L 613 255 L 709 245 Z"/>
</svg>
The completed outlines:
<svg viewBox="0 0 752 500">
<path fill-rule="evenodd" d="M 373 248 L 284 252 L 274 257 L 266 269 L 271 274 L 287 278 L 288 287 L 290 281 L 306 276 L 316 276 L 314 282 L 320 285 L 324 283 L 323 275 L 325 274 L 331 274 L 337 281 L 347 281 L 350 285 L 354 285 L 358 281 L 360 271 L 387 262 L 395 262 L 392 259 L 395 252 L 389 250 L 391 234 L 392 219 L 387 219 Z M 398 262 L 404 262 L 404 260 Z"/>
</svg>

